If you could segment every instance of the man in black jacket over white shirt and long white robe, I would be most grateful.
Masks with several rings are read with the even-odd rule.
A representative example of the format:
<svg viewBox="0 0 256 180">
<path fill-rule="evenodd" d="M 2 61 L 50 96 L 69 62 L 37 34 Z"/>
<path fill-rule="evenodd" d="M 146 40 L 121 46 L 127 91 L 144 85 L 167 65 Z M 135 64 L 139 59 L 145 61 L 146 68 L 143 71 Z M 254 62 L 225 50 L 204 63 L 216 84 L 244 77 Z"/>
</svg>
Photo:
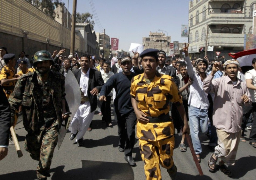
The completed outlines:
<svg viewBox="0 0 256 180">
<path fill-rule="evenodd" d="M 83 145 L 83 136 L 93 120 L 94 111 L 97 107 L 97 94 L 101 91 L 104 81 L 101 72 L 90 67 L 90 55 L 83 54 L 80 59 L 81 69 L 74 71 L 75 78 L 80 86 L 81 104 L 70 124 L 70 140 L 78 146 Z"/>
</svg>

